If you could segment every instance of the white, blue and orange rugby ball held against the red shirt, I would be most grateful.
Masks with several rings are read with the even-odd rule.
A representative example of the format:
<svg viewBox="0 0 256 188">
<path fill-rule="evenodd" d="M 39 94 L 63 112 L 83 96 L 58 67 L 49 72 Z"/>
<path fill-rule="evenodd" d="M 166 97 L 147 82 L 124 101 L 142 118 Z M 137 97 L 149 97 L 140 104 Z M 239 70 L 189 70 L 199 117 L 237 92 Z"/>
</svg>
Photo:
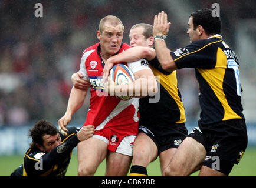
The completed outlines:
<svg viewBox="0 0 256 188">
<path fill-rule="evenodd" d="M 109 77 L 116 83 L 116 85 L 125 85 L 132 83 L 135 80 L 132 70 L 123 64 L 114 65 L 110 70 Z M 117 98 L 126 101 L 132 99 L 132 96 L 118 96 Z"/>
</svg>

